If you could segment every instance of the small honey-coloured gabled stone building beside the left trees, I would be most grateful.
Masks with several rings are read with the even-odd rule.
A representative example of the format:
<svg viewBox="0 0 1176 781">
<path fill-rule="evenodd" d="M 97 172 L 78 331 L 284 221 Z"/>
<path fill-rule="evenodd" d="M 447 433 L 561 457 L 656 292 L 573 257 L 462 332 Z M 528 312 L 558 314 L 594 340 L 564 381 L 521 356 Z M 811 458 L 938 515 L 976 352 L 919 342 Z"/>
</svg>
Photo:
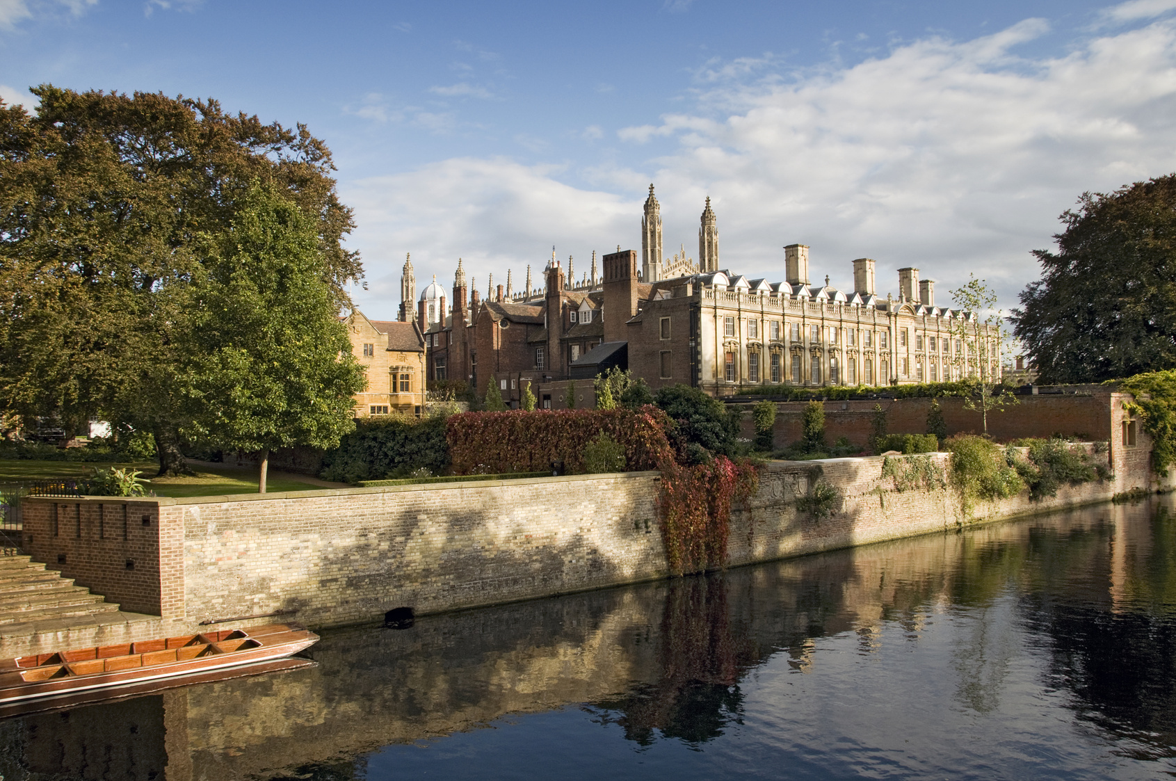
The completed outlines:
<svg viewBox="0 0 1176 781">
<path fill-rule="evenodd" d="M 368 320 L 362 312 L 346 319 L 352 353 L 363 366 L 367 387 L 355 394 L 355 416 L 425 409 L 425 335 L 415 320 Z"/>
</svg>

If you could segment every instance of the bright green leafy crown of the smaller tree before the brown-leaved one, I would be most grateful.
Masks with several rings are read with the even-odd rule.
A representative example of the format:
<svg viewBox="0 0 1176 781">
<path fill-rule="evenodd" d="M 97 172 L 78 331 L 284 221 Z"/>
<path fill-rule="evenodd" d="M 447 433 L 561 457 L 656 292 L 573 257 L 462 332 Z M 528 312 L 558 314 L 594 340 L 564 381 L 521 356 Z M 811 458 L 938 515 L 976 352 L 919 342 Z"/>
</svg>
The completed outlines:
<svg viewBox="0 0 1176 781">
<path fill-rule="evenodd" d="M 254 185 L 209 251 L 187 307 L 201 433 L 247 452 L 338 446 L 363 379 L 315 222 Z"/>
</svg>

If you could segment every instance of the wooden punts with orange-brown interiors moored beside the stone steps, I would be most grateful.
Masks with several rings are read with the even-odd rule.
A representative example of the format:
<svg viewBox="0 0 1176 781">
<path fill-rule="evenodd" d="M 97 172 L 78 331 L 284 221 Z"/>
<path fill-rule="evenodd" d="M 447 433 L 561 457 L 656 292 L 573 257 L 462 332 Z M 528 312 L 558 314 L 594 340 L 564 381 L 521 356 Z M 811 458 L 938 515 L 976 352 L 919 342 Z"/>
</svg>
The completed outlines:
<svg viewBox="0 0 1176 781">
<path fill-rule="evenodd" d="M 122 688 L 143 692 L 149 687 L 142 685 L 181 676 L 183 682 L 212 680 L 220 672 L 283 660 L 318 640 L 302 626 L 274 623 L 7 659 L 0 661 L 0 716 L 27 712 L 24 705 L 55 707 L 49 700 L 78 703 L 119 696 Z M 83 693 L 98 696 L 80 699 Z"/>
</svg>

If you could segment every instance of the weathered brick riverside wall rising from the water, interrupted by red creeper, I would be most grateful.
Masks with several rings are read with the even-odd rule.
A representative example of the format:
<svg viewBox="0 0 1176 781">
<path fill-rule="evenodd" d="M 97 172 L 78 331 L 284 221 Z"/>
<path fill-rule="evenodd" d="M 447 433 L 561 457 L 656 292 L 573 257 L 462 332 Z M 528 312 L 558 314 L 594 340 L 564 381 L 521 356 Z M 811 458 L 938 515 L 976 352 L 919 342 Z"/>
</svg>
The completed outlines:
<svg viewBox="0 0 1176 781">
<path fill-rule="evenodd" d="M 731 515 L 731 566 L 1108 501 L 1158 486 L 1150 443 L 1087 445 L 1112 473 L 969 508 L 949 454 L 773 461 Z M 931 480 L 914 485 L 916 460 Z M 896 470 L 896 473 L 895 473 Z M 185 629 L 274 616 L 312 627 L 472 608 L 668 576 L 654 472 L 193 499 L 27 499 L 26 550 L 123 609 Z M 831 515 L 797 509 L 818 482 Z M 125 507 L 122 507 L 125 506 Z M 102 519 L 128 519 L 114 523 Z M 129 562 L 133 561 L 133 568 Z"/>
</svg>

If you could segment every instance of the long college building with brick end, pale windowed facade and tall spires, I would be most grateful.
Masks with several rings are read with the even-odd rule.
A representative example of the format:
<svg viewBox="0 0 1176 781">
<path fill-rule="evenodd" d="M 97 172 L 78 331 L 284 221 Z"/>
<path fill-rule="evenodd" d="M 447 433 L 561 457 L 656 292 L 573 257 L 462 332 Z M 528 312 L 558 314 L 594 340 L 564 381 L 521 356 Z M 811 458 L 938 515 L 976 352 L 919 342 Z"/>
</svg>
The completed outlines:
<svg viewBox="0 0 1176 781">
<path fill-rule="evenodd" d="M 597 276 L 593 253 L 590 278 L 576 283 L 573 260 L 564 273 L 553 252 L 542 289 L 532 289 L 528 267 L 522 293 L 510 291 L 508 275 L 506 288 L 492 281 L 485 301 L 467 287 L 459 261 L 452 318 L 446 321 L 442 306 L 428 320 L 430 387 L 462 380 L 481 395 L 494 381 L 517 403 L 529 382 L 541 405 L 563 406 L 569 380 L 590 386 L 610 366 L 632 369 L 654 389 L 683 382 L 716 396 L 748 386 L 770 392 L 766 386 L 1000 376 L 995 334 L 974 313 L 936 306 L 934 282 L 920 280 L 917 268 L 900 268 L 897 295 L 883 298 L 875 261 L 860 258 L 854 289 L 842 291 L 829 276 L 814 283 L 809 247 L 793 243 L 783 248 L 783 281 L 749 279 L 720 267 L 709 198 L 697 265 L 684 249 L 662 255 L 661 226 L 650 186 L 640 258 L 617 248 L 601 259 Z"/>
</svg>

